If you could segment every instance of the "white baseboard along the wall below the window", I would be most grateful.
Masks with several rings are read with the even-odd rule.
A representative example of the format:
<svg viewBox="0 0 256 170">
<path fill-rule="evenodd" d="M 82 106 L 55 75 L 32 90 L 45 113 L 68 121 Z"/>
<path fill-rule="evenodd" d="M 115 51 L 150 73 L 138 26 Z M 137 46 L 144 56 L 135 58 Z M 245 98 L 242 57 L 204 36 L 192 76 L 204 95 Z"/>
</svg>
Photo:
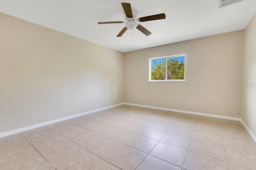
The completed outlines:
<svg viewBox="0 0 256 170">
<path fill-rule="evenodd" d="M 178 109 L 169 109 L 169 108 L 164 108 L 164 107 L 146 106 L 146 105 L 132 104 L 132 103 L 124 103 L 124 104 L 130 105 L 130 106 L 147 107 L 147 108 L 151 108 L 151 109 L 175 111 L 175 112 L 179 112 L 179 113 L 188 113 L 188 114 L 192 114 L 192 115 L 201 115 L 201 116 L 207 116 L 207 117 L 216 117 L 216 118 L 220 118 L 220 119 L 228 119 L 228 120 L 240 121 L 240 118 L 239 118 L 239 117 L 230 117 L 230 116 L 222 116 L 222 115 L 213 115 L 213 114 L 200 113 L 200 112 L 195 112 L 195 111 L 186 111 L 186 110 L 178 110 Z"/>
</svg>

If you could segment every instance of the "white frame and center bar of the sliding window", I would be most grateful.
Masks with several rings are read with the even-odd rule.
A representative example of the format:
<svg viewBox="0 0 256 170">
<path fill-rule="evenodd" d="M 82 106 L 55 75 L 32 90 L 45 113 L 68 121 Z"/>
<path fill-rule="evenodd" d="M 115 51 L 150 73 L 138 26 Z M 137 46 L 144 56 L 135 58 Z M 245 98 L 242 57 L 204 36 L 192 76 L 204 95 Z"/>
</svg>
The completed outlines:
<svg viewBox="0 0 256 170">
<path fill-rule="evenodd" d="M 167 59 L 168 58 L 173 58 L 173 57 L 183 57 L 184 56 L 184 79 L 183 80 L 167 80 L 167 76 L 165 76 L 165 80 L 151 80 L 151 61 L 154 59 L 166 59 L 166 73 L 165 75 L 167 75 Z M 156 58 L 152 58 L 149 59 L 149 82 L 185 82 L 185 78 L 186 78 L 186 54 L 181 54 L 181 55 L 172 55 L 172 56 L 166 56 L 166 57 L 156 57 Z"/>
</svg>

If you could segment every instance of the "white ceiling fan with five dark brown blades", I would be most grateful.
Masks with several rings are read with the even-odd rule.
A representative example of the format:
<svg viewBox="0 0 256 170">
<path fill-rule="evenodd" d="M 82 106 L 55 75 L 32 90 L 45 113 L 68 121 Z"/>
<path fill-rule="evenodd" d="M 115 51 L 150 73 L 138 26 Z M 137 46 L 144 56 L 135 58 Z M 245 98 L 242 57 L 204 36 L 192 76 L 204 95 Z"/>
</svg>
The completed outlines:
<svg viewBox="0 0 256 170">
<path fill-rule="evenodd" d="M 124 8 L 124 13 L 126 14 L 126 18 L 125 18 L 126 21 L 98 22 L 98 24 L 126 23 L 125 27 L 120 31 L 120 33 L 116 37 L 121 37 L 127 29 L 131 30 L 131 29 L 134 29 L 134 28 L 137 28 L 142 33 L 144 33 L 146 36 L 148 36 L 148 35 L 151 34 L 151 32 L 148 31 L 146 28 L 142 27 L 142 25 L 140 25 L 139 23 L 140 22 L 145 22 L 145 21 L 165 19 L 165 14 L 156 14 L 156 15 L 153 15 L 153 16 L 146 16 L 146 17 L 142 17 L 142 18 L 137 18 L 138 17 L 138 11 L 132 10 L 131 4 L 129 4 L 129 3 L 121 3 L 121 4 Z"/>
</svg>

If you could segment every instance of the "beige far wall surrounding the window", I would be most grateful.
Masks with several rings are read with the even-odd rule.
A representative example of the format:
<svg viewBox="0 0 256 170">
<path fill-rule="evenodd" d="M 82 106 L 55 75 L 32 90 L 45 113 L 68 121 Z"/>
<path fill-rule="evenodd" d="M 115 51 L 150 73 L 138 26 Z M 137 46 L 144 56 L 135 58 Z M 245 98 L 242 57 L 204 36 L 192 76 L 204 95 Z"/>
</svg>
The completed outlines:
<svg viewBox="0 0 256 170">
<path fill-rule="evenodd" d="M 243 39 L 241 30 L 125 53 L 125 102 L 239 117 Z M 186 82 L 148 82 L 150 58 L 184 53 Z"/>
</svg>

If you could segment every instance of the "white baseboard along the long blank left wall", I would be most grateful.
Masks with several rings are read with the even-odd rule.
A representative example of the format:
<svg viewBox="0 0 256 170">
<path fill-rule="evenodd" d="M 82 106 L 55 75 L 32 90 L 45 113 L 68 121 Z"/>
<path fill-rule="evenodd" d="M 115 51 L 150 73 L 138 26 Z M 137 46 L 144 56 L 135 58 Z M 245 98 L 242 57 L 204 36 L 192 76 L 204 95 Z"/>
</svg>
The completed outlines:
<svg viewBox="0 0 256 170">
<path fill-rule="evenodd" d="M 75 114 L 75 115 L 70 115 L 70 116 L 67 116 L 67 117 L 62 117 L 62 118 L 59 118 L 59 119 L 54 119 L 54 120 L 51 120 L 51 121 L 38 123 L 38 124 L 35 124 L 35 125 L 22 127 L 22 128 L 19 128 L 19 129 L 14 129 L 12 131 L 3 132 L 3 133 L 0 133 L 0 138 L 1 137 L 6 137 L 6 136 L 9 136 L 9 135 L 14 135 L 16 133 L 28 131 L 30 129 L 35 129 L 35 128 L 38 128 L 38 127 L 50 125 L 52 123 L 57 123 L 57 122 L 60 122 L 60 121 L 72 119 L 72 118 L 79 117 L 79 116 L 82 116 L 82 115 L 87 115 L 89 113 L 94 113 L 96 111 L 101 111 L 101 110 L 109 109 L 109 108 L 112 108 L 112 107 L 120 106 L 120 105 L 123 105 L 123 104 L 124 103 L 120 103 L 120 104 L 115 104 L 115 105 L 112 105 L 112 106 L 102 107 L 102 108 L 99 108 L 99 109 L 94 109 L 94 110 L 86 111 L 86 112 L 83 112 L 83 113 L 78 113 L 78 114 Z"/>
</svg>

